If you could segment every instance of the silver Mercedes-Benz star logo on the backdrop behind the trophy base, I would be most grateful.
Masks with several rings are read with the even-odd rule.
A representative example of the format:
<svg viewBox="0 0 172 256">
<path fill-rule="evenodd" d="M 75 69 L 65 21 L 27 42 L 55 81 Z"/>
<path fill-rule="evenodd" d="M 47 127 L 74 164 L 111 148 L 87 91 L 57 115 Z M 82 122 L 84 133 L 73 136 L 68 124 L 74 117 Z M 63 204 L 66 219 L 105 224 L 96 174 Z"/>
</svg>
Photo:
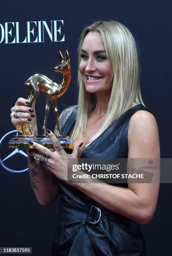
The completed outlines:
<svg viewBox="0 0 172 256">
<path fill-rule="evenodd" d="M 6 133 L 0 140 L 0 150 L 1 150 L 1 144 L 2 144 L 2 141 L 10 134 L 10 133 L 15 133 L 15 135 L 18 135 L 18 131 L 17 130 L 13 130 L 13 131 L 10 131 L 8 133 Z M 12 172 L 12 173 L 20 173 L 20 172 L 26 172 L 28 170 L 28 168 L 26 169 L 23 169 L 23 170 L 13 170 L 13 169 L 10 169 L 9 167 L 7 167 L 4 162 L 9 160 L 12 156 L 14 155 L 22 155 L 22 156 L 25 156 L 27 157 L 27 154 L 22 151 L 21 149 L 18 149 L 18 148 L 15 148 L 12 153 L 10 153 L 9 155 L 7 155 L 5 158 L 1 159 L 0 157 L 0 164 L 2 165 L 3 168 L 5 168 L 5 170 L 7 170 L 8 172 Z"/>
</svg>

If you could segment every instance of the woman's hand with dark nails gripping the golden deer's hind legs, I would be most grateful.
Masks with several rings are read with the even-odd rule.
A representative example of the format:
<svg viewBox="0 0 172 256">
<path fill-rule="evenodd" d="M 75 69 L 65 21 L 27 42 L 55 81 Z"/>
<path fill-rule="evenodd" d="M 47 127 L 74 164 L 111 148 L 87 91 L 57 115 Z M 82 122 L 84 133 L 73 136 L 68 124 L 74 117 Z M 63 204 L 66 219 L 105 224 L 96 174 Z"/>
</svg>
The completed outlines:
<svg viewBox="0 0 172 256">
<path fill-rule="evenodd" d="M 37 135 L 35 102 L 33 102 L 32 108 L 28 107 L 29 104 L 30 102 L 28 102 L 27 99 L 18 98 L 15 106 L 11 108 L 11 122 L 20 133 L 22 133 L 22 124 L 25 123 L 26 135 L 31 135 L 29 123 L 32 122 L 33 133 L 34 135 Z M 17 113 L 17 118 L 14 116 L 15 113 Z"/>
</svg>

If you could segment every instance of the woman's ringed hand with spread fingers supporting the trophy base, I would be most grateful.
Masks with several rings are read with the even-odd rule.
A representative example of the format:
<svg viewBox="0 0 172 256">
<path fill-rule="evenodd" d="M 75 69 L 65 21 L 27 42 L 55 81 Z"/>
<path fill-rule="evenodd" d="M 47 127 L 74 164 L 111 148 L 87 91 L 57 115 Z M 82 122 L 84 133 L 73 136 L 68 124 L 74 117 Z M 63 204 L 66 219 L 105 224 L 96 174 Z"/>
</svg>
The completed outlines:
<svg viewBox="0 0 172 256">
<path fill-rule="evenodd" d="M 67 162 L 68 159 L 76 159 L 75 164 L 77 164 L 77 153 L 79 148 L 82 146 L 83 143 L 77 143 L 73 149 L 72 154 L 67 154 L 65 150 L 60 145 L 59 141 L 55 137 L 54 133 L 47 129 L 47 135 L 50 137 L 52 141 L 52 145 L 55 148 L 55 151 L 52 152 L 48 148 L 45 148 L 44 146 L 29 141 L 30 145 L 32 145 L 33 148 L 35 148 L 38 152 L 41 152 L 43 155 L 48 156 L 48 166 L 49 170 L 58 178 L 61 179 L 64 182 L 67 182 Z M 33 154 L 35 157 L 40 157 L 40 154 Z M 43 160 L 43 156 L 42 156 Z M 42 162 L 41 162 L 42 163 Z M 52 166 L 52 167 L 51 167 Z"/>
</svg>

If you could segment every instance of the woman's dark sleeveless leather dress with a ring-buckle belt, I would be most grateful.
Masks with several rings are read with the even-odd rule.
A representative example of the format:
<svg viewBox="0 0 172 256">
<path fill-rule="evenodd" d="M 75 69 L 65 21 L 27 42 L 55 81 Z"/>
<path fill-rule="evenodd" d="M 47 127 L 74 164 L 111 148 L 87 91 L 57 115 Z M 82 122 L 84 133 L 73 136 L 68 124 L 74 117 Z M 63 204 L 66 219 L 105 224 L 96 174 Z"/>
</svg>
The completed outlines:
<svg viewBox="0 0 172 256">
<path fill-rule="evenodd" d="M 81 158 L 127 158 L 127 132 L 137 105 L 127 110 L 83 151 Z M 62 134 L 75 123 L 77 107 L 66 121 Z M 102 146 L 103 145 L 103 146 Z M 145 256 L 145 241 L 140 225 L 125 216 L 107 210 L 80 190 L 57 179 L 60 187 L 60 210 L 52 256 Z M 113 184 L 127 187 L 127 184 Z M 94 206 L 94 207 L 92 207 Z M 101 210 L 100 215 L 97 210 Z"/>
</svg>

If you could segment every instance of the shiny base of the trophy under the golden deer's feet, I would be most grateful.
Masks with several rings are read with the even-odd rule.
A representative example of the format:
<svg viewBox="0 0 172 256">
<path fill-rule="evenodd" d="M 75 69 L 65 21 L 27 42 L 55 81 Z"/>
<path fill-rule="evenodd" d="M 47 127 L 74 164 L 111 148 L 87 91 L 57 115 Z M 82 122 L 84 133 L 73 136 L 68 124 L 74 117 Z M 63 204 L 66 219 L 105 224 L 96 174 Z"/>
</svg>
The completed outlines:
<svg viewBox="0 0 172 256">
<path fill-rule="evenodd" d="M 73 141 L 69 138 L 69 136 L 56 136 L 62 148 L 70 154 L 73 150 Z M 28 143 L 28 141 L 33 141 L 39 143 L 46 148 L 54 148 L 52 146 L 52 142 L 49 136 L 23 136 L 18 135 L 14 136 L 8 142 L 8 148 L 33 148 L 32 145 Z"/>
</svg>

